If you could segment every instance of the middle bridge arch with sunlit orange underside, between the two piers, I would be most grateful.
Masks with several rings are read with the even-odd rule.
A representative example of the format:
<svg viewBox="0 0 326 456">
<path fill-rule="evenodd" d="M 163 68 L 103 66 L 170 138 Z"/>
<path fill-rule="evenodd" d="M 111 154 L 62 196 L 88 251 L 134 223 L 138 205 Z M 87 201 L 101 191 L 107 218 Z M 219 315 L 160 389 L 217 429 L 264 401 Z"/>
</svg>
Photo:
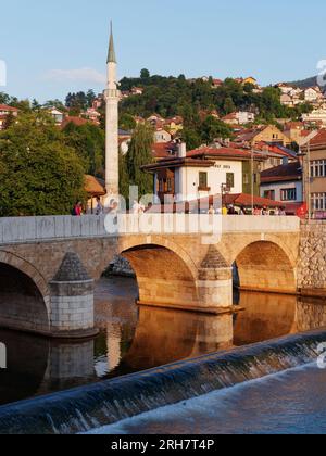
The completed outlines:
<svg viewBox="0 0 326 456">
<path fill-rule="evenodd" d="M 142 241 L 129 240 L 121 248 L 121 254 L 135 270 L 139 302 L 166 307 L 198 307 L 198 269 L 189 255 L 167 240 L 150 237 Z"/>
</svg>

